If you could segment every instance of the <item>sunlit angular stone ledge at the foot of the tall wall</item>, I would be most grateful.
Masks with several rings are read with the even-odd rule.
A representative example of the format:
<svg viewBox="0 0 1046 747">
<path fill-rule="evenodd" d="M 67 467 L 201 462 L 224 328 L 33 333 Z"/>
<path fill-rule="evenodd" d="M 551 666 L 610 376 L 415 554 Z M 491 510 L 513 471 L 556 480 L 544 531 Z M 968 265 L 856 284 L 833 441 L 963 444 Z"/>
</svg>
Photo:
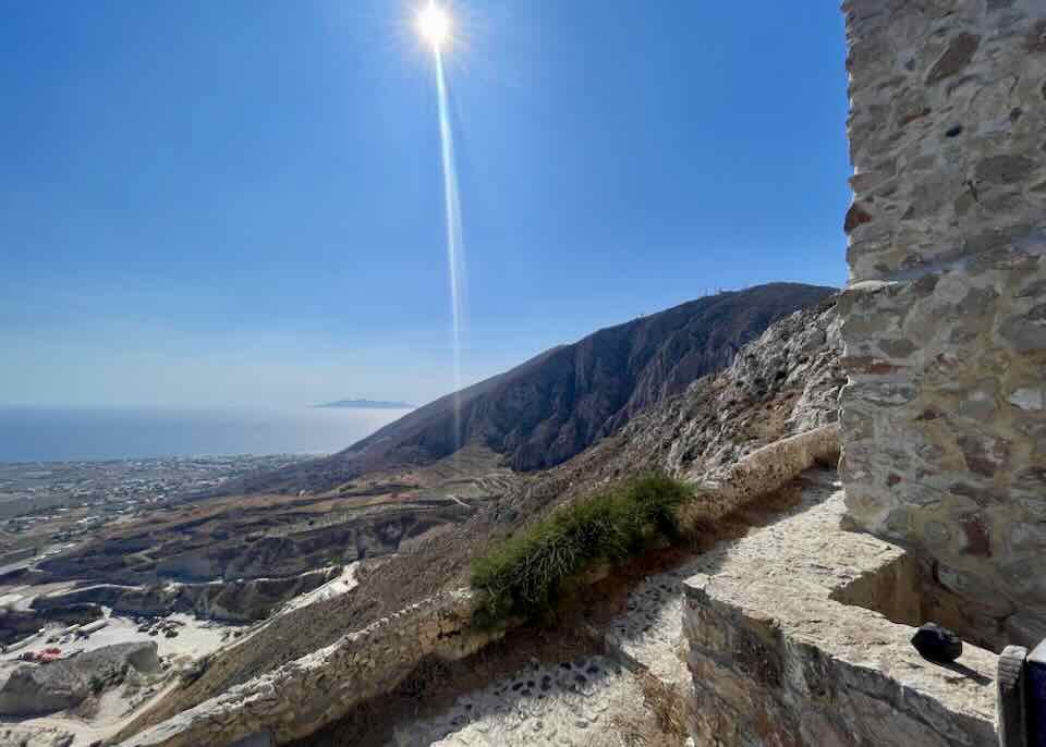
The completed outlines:
<svg viewBox="0 0 1046 747">
<path fill-rule="evenodd" d="M 834 599 L 896 581 L 905 555 L 841 530 L 843 494 L 827 492 L 807 488 L 685 581 L 698 744 L 997 745 L 994 653 L 968 644 L 958 665 L 932 664 L 913 627 Z"/>
</svg>

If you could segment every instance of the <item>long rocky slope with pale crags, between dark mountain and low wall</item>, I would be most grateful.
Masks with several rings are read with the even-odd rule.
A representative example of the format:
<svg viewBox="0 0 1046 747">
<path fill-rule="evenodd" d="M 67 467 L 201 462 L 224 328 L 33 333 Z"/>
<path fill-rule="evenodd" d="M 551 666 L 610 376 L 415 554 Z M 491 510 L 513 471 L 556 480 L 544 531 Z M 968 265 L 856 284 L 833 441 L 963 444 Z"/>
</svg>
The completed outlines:
<svg viewBox="0 0 1046 747">
<path fill-rule="evenodd" d="M 162 703 L 156 723 L 262 672 L 296 659 L 440 589 L 467 584 L 487 543 L 547 515 L 562 502 L 647 468 L 695 482 L 782 437 L 831 423 L 846 379 L 839 367 L 835 298 L 793 313 L 750 342 L 725 370 L 693 382 L 552 469 L 531 475 L 471 519 L 415 552 L 364 568 L 349 596 L 275 621 L 217 657 L 206 674 Z"/>
</svg>

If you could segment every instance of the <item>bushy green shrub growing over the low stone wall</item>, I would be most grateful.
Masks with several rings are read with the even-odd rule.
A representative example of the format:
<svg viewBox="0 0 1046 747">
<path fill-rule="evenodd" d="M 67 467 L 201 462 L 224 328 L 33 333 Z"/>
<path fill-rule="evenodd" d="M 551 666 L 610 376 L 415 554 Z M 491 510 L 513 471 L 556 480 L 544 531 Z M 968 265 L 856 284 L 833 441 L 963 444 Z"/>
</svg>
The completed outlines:
<svg viewBox="0 0 1046 747">
<path fill-rule="evenodd" d="M 677 539 L 676 509 L 691 495 L 665 475 L 636 477 L 496 544 L 472 566 L 472 586 L 485 592 L 476 622 L 497 626 L 552 613 L 580 573 L 641 554 L 656 538 Z"/>
</svg>

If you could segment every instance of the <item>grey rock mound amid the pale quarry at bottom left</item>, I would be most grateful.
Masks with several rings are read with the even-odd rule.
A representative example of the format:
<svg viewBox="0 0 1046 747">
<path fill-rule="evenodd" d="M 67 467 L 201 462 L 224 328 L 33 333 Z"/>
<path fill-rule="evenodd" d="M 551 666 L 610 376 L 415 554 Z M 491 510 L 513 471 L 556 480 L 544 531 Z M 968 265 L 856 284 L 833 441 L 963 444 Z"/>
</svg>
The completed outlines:
<svg viewBox="0 0 1046 747">
<path fill-rule="evenodd" d="M 159 671 L 154 641 L 117 644 L 48 664 L 20 666 L 0 687 L 0 714 L 39 715 L 75 708 L 119 683 L 129 670 Z"/>
</svg>

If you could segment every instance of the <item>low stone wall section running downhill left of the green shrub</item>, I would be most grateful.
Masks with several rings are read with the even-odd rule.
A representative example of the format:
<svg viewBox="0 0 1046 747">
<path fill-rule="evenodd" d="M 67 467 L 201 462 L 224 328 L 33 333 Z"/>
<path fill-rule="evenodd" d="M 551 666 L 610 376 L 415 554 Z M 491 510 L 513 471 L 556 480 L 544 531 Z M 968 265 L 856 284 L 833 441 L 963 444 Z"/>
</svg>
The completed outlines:
<svg viewBox="0 0 1046 747">
<path fill-rule="evenodd" d="M 122 743 L 230 745 L 257 733 L 301 738 L 392 690 L 425 657 L 460 659 L 492 639 L 470 628 L 472 595 L 440 595 L 231 688 Z"/>
</svg>

